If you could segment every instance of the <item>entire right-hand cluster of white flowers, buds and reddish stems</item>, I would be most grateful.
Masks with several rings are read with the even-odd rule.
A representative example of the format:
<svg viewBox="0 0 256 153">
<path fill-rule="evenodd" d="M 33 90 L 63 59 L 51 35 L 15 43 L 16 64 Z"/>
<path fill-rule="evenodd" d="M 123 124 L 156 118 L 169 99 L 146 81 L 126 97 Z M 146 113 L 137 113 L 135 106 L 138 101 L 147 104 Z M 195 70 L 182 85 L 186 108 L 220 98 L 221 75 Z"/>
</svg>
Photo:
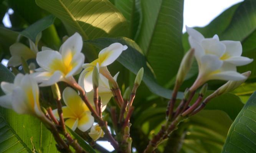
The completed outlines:
<svg viewBox="0 0 256 153">
<path fill-rule="evenodd" d="M 253 61 L 253 59 L 241 56 L 241 42 L 220 41 L 218 35 L 213 36 L 213 38 L 205 38 L 195 29 L 186 28 L 189 34 L 188 40 L 191 49 L 184 55 L 180 64 L 172 99 L 170 99 L 167 105 L 166 123 L 162 126 L 159 133 L 150 140 L 144 153 L 154 151 L 155 148 L 176 129 L 177 125 L 182 122 L 182 120 L 197 114 L 211 99 L 234 90 L 244 83 L 251 74 L 250 71 L 242 74 L 236 71 L 237 66 L 246 65 Z M 174 111 L 178 90 L 192 66 L 194 57 L 197 60 L 199 70 L 197 79 L 193 85 L 184 92 L 183 99 Z M 207 90 L 206 82 L 208 80 L 227 80 L 228 82 L 204 98 Z M 201 90 L 198 93 L 197 100 L 190 106 L 192 98 L 196 95 L 195 92 L 200 87 Z"/>
</svg>

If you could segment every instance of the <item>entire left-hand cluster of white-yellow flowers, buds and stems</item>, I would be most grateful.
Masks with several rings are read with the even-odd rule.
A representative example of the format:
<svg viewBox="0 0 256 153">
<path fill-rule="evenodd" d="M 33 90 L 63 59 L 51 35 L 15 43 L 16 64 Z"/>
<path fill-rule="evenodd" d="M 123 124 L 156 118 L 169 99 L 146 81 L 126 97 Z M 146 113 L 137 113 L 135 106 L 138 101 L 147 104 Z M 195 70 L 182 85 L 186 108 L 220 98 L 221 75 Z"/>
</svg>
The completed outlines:
<svg viewBox="0 0 256 153">
<path fill-rule="evenodd" d="M 56 146 L 61 152 L 72 152 L 69 146 L 72 146 L 78 153 L 86 152 L 76 140 L 73 140 L 66 127 L 73 131 L 87 133 L 86 135 L 92 141 L 106 136 L 116 150 L 131 152 L 132 139 L 129 136 L 131 125 L 129 122 L 134 109 L 132 102 L 142 81 L 143 68 L 139 70 L 135 78 L 132 91 L 126 90 L 124 97 L 116 81 L 119 72 L 112 77 L 107 69 L 107 66 L 128 47 L 113 43 L 99 52 L 98 59 L 91 63 L 84 63 L 85 56 L 81 52 L 83 40 L 80 34 L 75 33 L 71 37 L 65 37 L 59 51 L 42 47 L 42 50 L 38 52 L 37 44 L 40 38 L 41 34 L 38 35 L 35 44 L 29 40 L 30 49 L 21 43 L 10 47 L 12 57 L 8 65 L 15 68 L 22 64 L 26 74 L 16 75 L 13 83 L 4 81 L 1 83 L 5 95 L 0 96 L 0 106 L 13 109 L 19 114 L 38 117 L 53 133 Z M 20 47 L 21 51 L 17 47 Z M 30 71 L 26 60 L 33 58 L 36 59 L 40 68 L 33 68 L 33 71 Z M 25 71 L 25 68 L 28 71 Z M 73 76 L 79 73 L 81 74 L 77 82 Z M 59 81 L 68 85 L 62 92 L 58 86 Z M 51 107 L 45 109 L 40 106 L 39 87 L 41 86 L 51 86 L 56 109 L 52 110 Z M 130 98 L 127 96 L 129 94 Z M 120 110 L 118 119 L 116 109 L 113 109 L 111 113 L 114 127 L 118 127 L 115 129 L 116 139 L 109 132 L 106 119 L 102 116 L 102 112 L 112 97 L 116 100 Z M 62 106 L 62 100 L 65 106 Z M 93 125 L 94 122 L 97 124 Z M 125 136 L 118 137 L 121 134 Z"/>
</svg>

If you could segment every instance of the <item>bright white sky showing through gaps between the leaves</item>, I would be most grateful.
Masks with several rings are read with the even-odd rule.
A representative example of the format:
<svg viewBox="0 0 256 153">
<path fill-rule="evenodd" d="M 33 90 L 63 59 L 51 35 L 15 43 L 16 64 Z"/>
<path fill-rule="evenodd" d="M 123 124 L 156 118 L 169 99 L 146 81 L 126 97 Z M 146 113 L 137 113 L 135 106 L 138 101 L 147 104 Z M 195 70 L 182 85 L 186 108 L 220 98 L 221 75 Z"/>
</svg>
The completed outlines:
<svg viewBox="0 0 256 153">
<path fill-rule="evenodd" d="M 183 33 L 186 31 L 185 25 L 189 27 L 206 26 L 224 10 L 242 1 L 243 0 L 184 0 Z M 13 10 L 9 9 L 8 13 L 12 14 Z M 12 24 L 10 23 L 8 13 L 6 13 L 3 18 L 3 24 L 11 28 Z M 4 59 L 2 64 L 7 65 L 7 62 L 8 60 Z M 97 143 L 104 146 L 104 148 L 109 151 L 114 150 L 109 142 L 98 141 Z"/>
</svg>

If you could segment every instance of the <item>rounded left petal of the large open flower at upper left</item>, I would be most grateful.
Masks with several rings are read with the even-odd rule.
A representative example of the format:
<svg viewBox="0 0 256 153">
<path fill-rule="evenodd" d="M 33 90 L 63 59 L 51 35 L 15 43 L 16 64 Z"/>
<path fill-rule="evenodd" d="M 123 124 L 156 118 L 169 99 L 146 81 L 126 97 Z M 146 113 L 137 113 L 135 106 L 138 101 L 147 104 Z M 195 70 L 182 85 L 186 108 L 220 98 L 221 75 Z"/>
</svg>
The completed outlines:
<svg viewBox="0 0 256 153">
<path fill-rule="evenodd" d="M 36 62 L 38 65 L 51 72 L 54 72 L 56 69 L 58 70 L 58 67 L 63 67 L 63 63 L 61 63 L 61 61 L 61 54 L 54 50 L 44 50 L 38 52 L 36 55 Z"/>
</svg>

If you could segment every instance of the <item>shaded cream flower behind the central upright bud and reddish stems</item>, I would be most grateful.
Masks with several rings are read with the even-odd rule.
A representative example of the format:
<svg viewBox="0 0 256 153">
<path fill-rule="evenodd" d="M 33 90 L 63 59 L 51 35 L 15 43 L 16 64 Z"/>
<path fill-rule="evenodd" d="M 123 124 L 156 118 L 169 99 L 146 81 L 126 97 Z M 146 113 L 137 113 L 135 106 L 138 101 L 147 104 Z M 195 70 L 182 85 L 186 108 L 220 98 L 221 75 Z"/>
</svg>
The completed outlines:
<svg viewBox="0 0 256 153">
<path fill-rule="evenodd" d="M 114 80 L 117 80 L 119 72 L 113 77 Z M 81 83 L 81 82 L 80 82 Z M 82 88 L 85 88 L 83 83 L 79 84 Z M 98 87 L 98 95 L 101 97 L 101 103 L 102 108 L 101 110 L 104 111 L 106 109 L 107 103 L 113 96 L 112 91 L 109 87 L 109 82 L 106 77 L 104 77 L 102 74 L 99 74 L 99 87 Z M 94 106 L 94 90 L 86 93 L 86 96 L 88 98 L 88 101 L 91 103 L 92 106 Z M 94 106 L 95 107 L 95 106 Z"/>
</svg>

